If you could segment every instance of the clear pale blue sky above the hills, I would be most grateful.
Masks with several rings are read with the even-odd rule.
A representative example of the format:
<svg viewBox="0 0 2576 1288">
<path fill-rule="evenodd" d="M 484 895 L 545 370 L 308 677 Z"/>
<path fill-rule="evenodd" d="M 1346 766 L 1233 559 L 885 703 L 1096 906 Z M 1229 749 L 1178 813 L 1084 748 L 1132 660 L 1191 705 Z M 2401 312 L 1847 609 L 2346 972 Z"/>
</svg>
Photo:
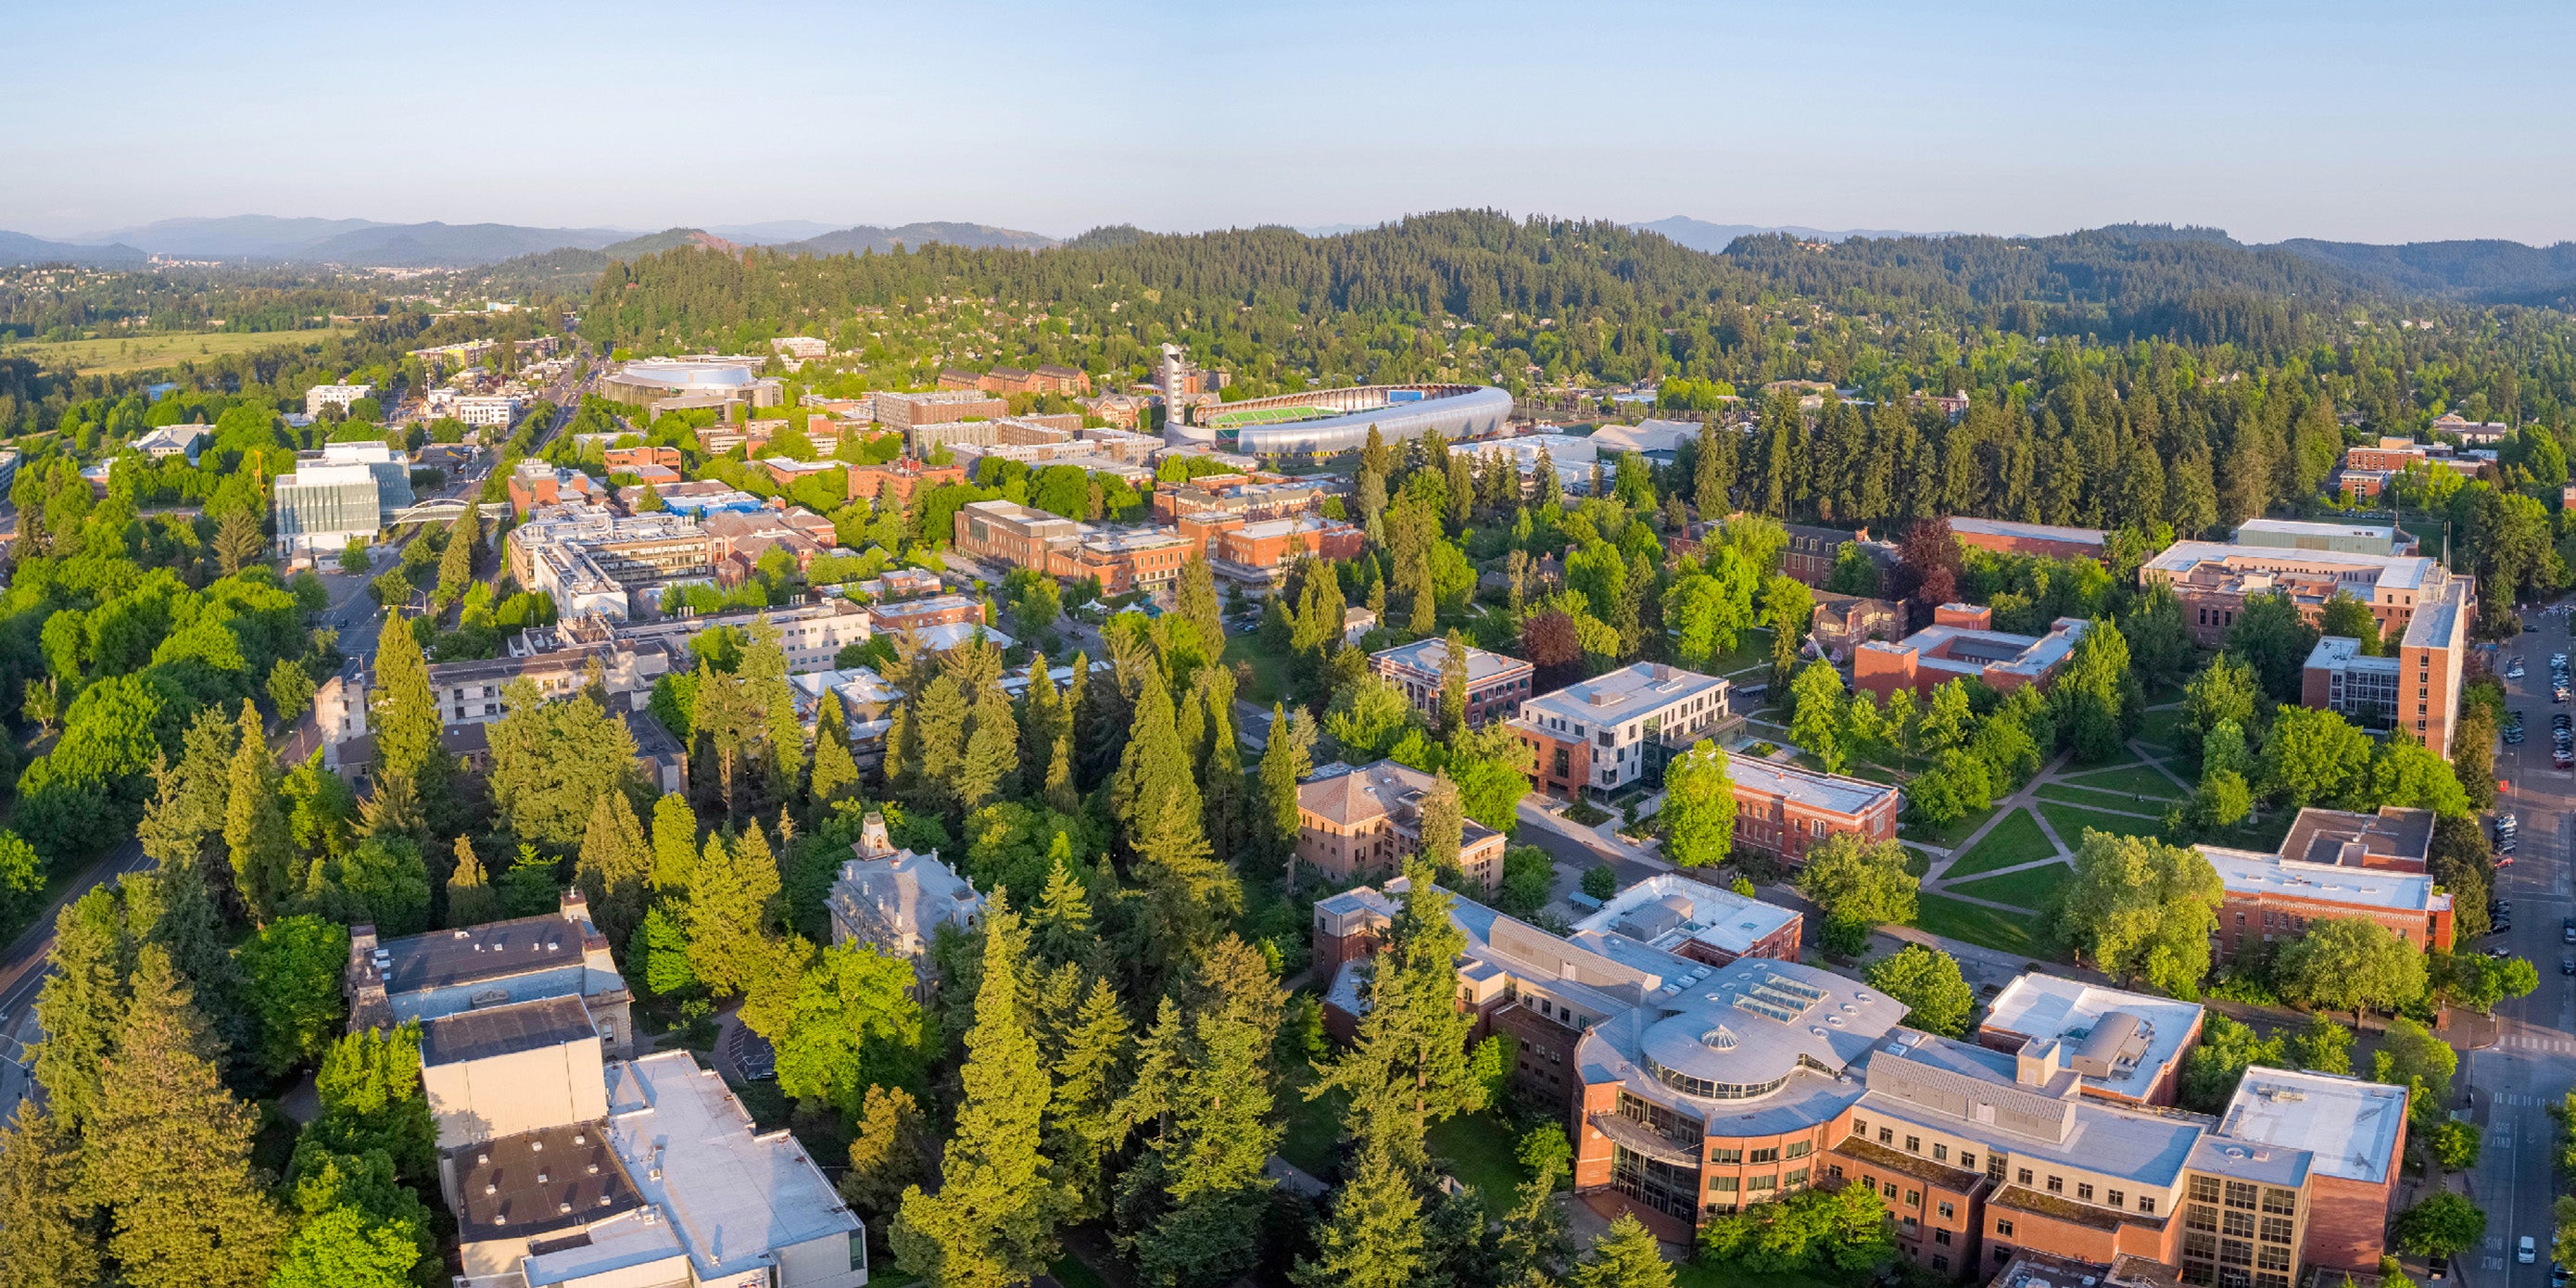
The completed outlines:
<svg viewBox="0 0 2576 1288">
<path fill-rule="evenodd" d="M 0 227 L 2576 237 L 2576 5 L 0 0 Z"/>
</svg>

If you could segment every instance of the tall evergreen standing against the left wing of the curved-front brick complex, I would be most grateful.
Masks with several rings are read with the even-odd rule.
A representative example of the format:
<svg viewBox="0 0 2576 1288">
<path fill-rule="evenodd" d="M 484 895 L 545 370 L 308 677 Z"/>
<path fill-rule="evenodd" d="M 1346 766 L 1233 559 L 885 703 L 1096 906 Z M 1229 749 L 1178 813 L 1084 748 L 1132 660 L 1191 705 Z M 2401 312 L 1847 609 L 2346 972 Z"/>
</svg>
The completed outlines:
<svg viewBox="0 0 2576 1288">
<path fill-rule="evenodd" d="M 1450 894 L 1427 866 L 1412 863 L 1404 876 L 1401 912 L 1363 987 L 1360 1041 L 1306 1095 L 1342 1087 L 1350 1133 L 1419 1175 L 1430 1126 L 1484 1108 L 1486 1090 L 1466 1059 L 1473 1020 L 1458 1012 L 1466 933 L 1450 922 Z"/>
</svg>

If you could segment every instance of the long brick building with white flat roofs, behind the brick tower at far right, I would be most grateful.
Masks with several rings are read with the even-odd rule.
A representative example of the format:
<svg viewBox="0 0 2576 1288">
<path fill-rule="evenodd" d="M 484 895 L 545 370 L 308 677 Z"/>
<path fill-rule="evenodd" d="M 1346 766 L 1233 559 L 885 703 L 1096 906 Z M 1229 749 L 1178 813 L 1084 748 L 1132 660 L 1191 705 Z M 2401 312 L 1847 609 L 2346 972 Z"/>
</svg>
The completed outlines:
<svg viewBox="0 0 2576 1288">
<path fill-rule="evenodd" d="M 2138 567 L 2138 585 L 2164 582 L 2182 600 L 2182 621 L 2205 647 L 2226 641 L 2249 595 L 2290 595 L 2313 623 L 2326 600 L 2352 595 L 2378 618 L 2380 634 L 2406 626 L 2419 605 L 2445 600 L 2455 582 L 2439 559 L 2414 554 L 2349 554 L 2324 549 L 2177 541 Z M 2476 613 L 2476 587 L 2460 600 Z"/>
</svg>

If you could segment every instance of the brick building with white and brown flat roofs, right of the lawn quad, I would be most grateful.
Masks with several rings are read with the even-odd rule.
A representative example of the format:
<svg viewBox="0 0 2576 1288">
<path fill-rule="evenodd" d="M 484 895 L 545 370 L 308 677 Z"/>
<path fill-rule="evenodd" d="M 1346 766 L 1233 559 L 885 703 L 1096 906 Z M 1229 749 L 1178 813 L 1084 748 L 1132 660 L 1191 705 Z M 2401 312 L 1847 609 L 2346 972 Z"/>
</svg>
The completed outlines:
<svg viewBox="0 0 2576 1288">
<path fill-rule="evenodd" d="M 2249 948 L 2293 940 L 2306 935 L 2311 922 L 2329 917 L 2372 920 L 2416 948 L 2447 951 L 2452 945 L 2450 894 L 2434 886 L 2419 866 L 2398 860 L 2411 845 L 2396 832 L 2411 829 L 2411 822 L 2375 819 L 2372 827 L 2360 827 L 2352 824 L 2352 814 L 2300 814 L 2303 819 L 2290 824 L 2290 837 L 2282 842 L 2298 845 L 2298 850 L 2200 848 L 2226 886 L 2213 933 L 2218 961 L 2236 961 Z M 2313 819 L 2311 827 L 2306 814 L 2324 817 Z M 2427 819 L 2424 835 L 2429 837 L 2429 832 Z M 2372 840 L 2375 835 L 2378 840 Z"/>
</svg>

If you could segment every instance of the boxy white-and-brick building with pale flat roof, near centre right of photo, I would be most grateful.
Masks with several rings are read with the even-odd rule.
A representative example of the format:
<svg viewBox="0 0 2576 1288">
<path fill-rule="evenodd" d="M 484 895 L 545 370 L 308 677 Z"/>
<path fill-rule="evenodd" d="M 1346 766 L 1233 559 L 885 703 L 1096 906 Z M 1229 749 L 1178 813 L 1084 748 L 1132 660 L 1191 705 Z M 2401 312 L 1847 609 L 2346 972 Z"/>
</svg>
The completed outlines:
<svg viewBox="0 0 2576 1288">
<path fill-rule="evenodd" d="M 1726 680 L 1638 662 L 1520 703 L 1512 732 L 1548 796 L 1662 783 L 1664 765 L 1726 716 Z"/>
</svg>

